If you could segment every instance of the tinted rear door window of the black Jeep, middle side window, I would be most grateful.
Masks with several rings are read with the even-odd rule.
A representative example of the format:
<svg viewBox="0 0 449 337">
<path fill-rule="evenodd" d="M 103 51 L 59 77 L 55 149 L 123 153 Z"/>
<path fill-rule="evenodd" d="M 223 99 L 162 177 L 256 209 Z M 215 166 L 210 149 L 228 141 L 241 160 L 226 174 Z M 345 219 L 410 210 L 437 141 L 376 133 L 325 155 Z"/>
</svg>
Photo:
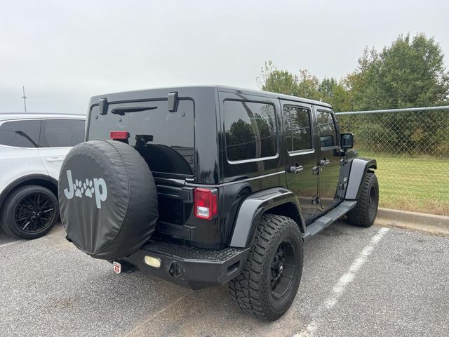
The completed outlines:
<svg viewBox="0 0 449 337">
<path fill-rule="evenodd" d="M 310 110 L 304 107 L 283 106 L 286 123 L 287 150 L 311 150 Z"/>
</svg>

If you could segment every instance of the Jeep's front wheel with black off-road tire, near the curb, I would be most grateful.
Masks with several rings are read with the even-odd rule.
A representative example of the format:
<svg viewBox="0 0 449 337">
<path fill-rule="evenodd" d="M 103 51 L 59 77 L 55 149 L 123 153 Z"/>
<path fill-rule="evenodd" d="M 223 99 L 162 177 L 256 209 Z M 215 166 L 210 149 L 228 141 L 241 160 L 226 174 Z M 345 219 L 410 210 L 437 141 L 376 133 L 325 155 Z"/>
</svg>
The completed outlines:
<svg viewBox="0 0 449 337">
<path fill-rule="evenodd" d="M 348 222 L 359 227 L 370 227 L 377 216 L 379 205 L 379 183 L 374 173 L 368 172 L 363 178 L 357 205 L 347 213 Z"/>
</svg>

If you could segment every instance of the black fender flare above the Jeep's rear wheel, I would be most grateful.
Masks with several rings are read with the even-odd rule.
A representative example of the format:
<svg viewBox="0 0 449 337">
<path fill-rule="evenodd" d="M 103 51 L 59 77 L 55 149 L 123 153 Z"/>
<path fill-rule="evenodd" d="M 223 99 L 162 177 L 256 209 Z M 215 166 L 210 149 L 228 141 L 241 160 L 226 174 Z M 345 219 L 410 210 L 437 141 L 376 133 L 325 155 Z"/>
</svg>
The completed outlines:
<svg viewBox="0 0 449 337">
<path fill-rule="evenodd" d="M 250 194 L 243 200 L 236 216 L 229 246 L 248 247 L 255 235 L 262 214 L 283 205 L 288 205 L 289 209 L 296 213 L 295 221 L 298 223 L 301 232 L 304 233 L 305 223 L 297 196 L 284 187 L 272 187 L 268 190 Z"/>
</svg>

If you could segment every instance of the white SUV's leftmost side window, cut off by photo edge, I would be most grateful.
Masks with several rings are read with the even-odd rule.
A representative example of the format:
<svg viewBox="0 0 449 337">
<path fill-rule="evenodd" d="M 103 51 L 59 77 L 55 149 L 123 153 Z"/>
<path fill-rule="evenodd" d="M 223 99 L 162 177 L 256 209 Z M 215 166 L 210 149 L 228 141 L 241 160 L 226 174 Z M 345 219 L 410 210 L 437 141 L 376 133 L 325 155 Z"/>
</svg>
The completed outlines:
<svg viewBox="0 0 449 337">
<path fill-rule="evenodd" d="M 0 126 L 0 145 L 37 147 L 41 120 L 6 121 Z"/>
</svg>

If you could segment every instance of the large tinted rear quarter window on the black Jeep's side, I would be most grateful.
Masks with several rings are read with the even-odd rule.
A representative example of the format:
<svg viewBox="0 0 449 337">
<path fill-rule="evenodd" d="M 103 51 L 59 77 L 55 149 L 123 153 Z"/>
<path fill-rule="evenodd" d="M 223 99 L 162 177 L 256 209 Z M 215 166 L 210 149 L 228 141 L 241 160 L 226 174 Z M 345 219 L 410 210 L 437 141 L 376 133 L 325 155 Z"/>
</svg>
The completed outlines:
<svg viewBox="0 0 449 337">
<path fill-rule="evenodd" d="M 274 105 L 238 100 L 225 100 L 223 105 L 229 161 L 276 155 Z"/>
</svg>

